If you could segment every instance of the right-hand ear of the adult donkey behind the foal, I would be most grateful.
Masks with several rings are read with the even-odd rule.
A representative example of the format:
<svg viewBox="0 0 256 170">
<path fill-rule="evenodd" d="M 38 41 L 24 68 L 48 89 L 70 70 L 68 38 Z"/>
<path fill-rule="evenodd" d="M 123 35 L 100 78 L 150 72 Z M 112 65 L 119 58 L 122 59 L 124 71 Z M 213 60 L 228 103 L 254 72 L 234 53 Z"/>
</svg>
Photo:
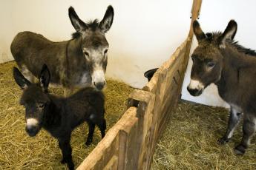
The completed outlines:
<svg viewBox="0 0 256 170">
<path fill-rule="evenodd" d="M 107 33 L 108 30 L 111 28 L 114 19 L 114 9 L 111 5 L 108 6 L 106 10 L 105 16 L 99 23 L 99 28 L 102 30 L 103 33 Z"/>
</svg>

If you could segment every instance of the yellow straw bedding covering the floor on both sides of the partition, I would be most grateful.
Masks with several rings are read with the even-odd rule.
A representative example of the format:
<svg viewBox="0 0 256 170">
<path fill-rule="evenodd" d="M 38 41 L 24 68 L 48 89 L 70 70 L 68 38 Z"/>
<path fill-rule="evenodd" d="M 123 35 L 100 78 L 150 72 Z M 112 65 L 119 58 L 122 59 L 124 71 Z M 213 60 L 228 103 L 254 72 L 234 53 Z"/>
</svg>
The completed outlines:
<svg viewBox="0 0 256 170">
<path fill-rule="evenodd" d="M 0 64 L 0 169 L 67 169 L 60 163 L 61 152 L 56 139 L 45 130 L 36 137 L 24 131 L 24 108 L 19 105 L 22 91 L 13 80 L 14 62 Z M 108 79 L 105 89 L 107 130 L 126 109 L 126 99 L 132 88 Z M 62 89 L 50 89 L 62 95 Z M 236 156 L 234 146 L 242 136 L 241 123 L 226 145 L 217 139 L 226 131 L 227 109 L 180 101 L 171 113 L 163 137 L 157 143 L 152 169 L 256 169 L 255 137 L 243 156 Z M 76 166 L 88 156 L 101 140 L 99 129 L 93 144 L 85 146 L 88 126 L 84 123 L 72 134 L 73 161 Z"/>
</svg>

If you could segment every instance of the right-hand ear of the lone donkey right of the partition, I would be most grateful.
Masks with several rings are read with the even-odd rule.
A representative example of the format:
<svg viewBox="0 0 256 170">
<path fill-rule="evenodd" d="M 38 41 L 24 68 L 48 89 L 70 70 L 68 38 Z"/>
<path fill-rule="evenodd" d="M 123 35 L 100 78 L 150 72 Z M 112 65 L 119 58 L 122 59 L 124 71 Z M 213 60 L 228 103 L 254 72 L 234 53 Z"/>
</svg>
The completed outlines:
<svg viewBox="0 0 256 170">
<path fill-rule="evenodd" d="M 237 33 L 237 22 L 234 20 L 230 20 L 224 33 L 220 37 L 220 45 L 225 46 L 224 42 L 228 39 L 232 40 L 236 33 Z"/>
</svg>

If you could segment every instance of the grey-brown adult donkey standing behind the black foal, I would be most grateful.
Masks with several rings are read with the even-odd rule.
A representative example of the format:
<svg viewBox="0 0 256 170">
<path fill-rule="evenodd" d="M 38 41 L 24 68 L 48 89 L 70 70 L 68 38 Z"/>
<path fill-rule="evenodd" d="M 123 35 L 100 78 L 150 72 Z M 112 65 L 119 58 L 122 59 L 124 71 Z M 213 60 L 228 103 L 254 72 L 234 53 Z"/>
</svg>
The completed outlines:
<svg viewBox="0 0 256 170">
<path fill-rule="evenodd" d="M 47 64 L 51 73 L 50 85 L 67 89 L 94 86 L 100 90 L 106 84 L 108 41 L 105 33 L 113 23 L 114 9 L 108 6 L 102 21 L 86 24 L 73 7 L 68 13 L 76 30 L 72 39 L 53 42 L 36 33 L 18 33 L 10 46 L 13 58 L 31 82 L 39 75 L 42 65 Z"/>
</svg>

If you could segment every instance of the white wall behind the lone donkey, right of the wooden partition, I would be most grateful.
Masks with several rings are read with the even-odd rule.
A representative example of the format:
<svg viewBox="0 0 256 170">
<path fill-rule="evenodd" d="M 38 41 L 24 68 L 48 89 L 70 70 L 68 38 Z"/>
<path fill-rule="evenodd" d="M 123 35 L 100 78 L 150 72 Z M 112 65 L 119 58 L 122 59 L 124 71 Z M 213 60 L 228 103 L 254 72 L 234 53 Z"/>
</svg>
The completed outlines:
<svg viewBox="0 0 256 170">
<path fill-rule="evenodd" d="M 214 0 L 203 1 L 200 13 L 200 26 L 205 33 L 211 31 L 224 31 L 229 20 L 237 21 L 237 35 L 235 40 L 247 48 L 256 50 L 256 1 L 255 0 Z M 191 52 L 197 47 L 197 40 L 194 38 Z M 219 97 L 217 87 L 214 84 L 207 87 L 203 95 L 193 97 L 189 95 L 186 87 L 190 81 L 191 59 L 188 63 L 186 78 L 183 84 L 183 99 L 204 103 L 213 106 L 227 106 L 227 104 Z"/>
</svg>

